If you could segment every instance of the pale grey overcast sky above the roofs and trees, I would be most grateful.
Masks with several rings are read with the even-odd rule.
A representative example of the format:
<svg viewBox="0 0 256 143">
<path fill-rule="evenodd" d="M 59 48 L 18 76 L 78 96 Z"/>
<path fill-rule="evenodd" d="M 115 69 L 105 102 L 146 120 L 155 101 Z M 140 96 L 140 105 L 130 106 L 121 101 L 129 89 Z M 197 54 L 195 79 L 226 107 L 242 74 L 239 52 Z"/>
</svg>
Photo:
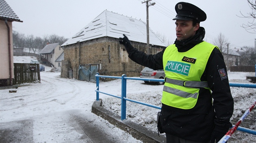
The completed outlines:
<svg viewBox="0 0 256 143">
<path fill-rule="evenodd" d="M 71 38 L 104 10 L 141 19 L 146 22 L 146 4 L 144 0 L 5 0 L 17 14 L 20 22 L 13 22 L 13 30 L 20 34 L 50 36 L 56 34 Z M 175 24 L 172 19 L 176 12 L 174 6 L 179 0 L 152 0 L 149 7 L 149 26 L 170 40 L 176 39 Z M 186 0 L 200 7 L 207 19 L 200 23 L 206 29 L 204 38 L 213 42 L 222 33 L 230 48 L 255 46 L 256 34 L 246 32 L 241 27 L 252 19 L 238 17 L 240 11 L 251 11 L 247 0 Z"/>
</svg>

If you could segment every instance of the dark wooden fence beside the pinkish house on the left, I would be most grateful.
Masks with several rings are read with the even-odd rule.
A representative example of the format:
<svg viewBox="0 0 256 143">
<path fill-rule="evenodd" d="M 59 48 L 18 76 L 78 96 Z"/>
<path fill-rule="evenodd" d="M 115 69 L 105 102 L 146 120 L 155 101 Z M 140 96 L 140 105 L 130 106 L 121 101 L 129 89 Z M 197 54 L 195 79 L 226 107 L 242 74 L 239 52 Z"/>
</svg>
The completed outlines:
<svg viewBox="0 0 256 143">
<path fill-rule="evenodd" d="M 14 63 L 14 81 L 15 84 L 32 83 L 41 81 L 39 63 Z"/>
</svg>

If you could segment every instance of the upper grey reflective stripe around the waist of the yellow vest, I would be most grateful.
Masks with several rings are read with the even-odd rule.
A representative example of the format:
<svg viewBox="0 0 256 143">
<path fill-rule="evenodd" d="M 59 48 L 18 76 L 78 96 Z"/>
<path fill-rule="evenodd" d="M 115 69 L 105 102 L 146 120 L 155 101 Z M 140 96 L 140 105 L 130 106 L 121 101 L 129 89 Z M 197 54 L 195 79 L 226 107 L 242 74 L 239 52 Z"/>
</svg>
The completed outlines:
<svg viewBox="0 0 256 143">
<path fill-rule="evenodd" d="M 186 87 L 195 87 L 195 88 L 208 88 L 208 83 L 205 81 L 183 81 L 183 80 L 174 80 L 171 78 L 165 78 L 165 82 L 176 84 L 179 86 L 186 86 Z"/>
</svg>

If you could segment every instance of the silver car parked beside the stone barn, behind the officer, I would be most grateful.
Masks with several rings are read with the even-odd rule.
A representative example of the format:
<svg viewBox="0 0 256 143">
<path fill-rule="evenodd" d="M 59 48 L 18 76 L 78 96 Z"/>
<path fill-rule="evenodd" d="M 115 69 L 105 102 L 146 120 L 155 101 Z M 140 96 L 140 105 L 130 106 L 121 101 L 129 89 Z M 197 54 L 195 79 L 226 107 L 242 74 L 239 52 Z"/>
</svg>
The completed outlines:
<svg viewBox="0 0 256 143">
<path fill-rule="evenodd" d="M 141 78 L 157 78 L 157 79 L 164 79 L 165 78 L 165 71 L 163 69 L 160 70 L 154 70 L 150 69 L 148 67 L 145 67 L 141 71 Z M 148 83 L 148 81 L 144 81 L 145 83 Z M 157 82 L 157 84 L 162 85 L 165 82 Z"/>
</svg>

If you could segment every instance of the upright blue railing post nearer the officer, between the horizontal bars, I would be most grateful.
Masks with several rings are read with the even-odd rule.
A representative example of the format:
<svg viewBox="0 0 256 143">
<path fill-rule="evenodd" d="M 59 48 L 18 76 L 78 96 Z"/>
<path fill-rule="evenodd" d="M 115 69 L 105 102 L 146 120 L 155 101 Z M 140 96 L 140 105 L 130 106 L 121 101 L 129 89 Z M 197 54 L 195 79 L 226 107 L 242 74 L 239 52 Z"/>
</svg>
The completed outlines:
<svg viewBox="0 0 256 143">
<path fill-rule="evenodd" d="M 126 79 L 124 78 L 126 77 L 125 74 L 122 75 L 122 93 L 121 93 L 121 120 L 125 120 L 126 119 L 126 100 L 124 98 L 126 98 Z"/>
</svg>

